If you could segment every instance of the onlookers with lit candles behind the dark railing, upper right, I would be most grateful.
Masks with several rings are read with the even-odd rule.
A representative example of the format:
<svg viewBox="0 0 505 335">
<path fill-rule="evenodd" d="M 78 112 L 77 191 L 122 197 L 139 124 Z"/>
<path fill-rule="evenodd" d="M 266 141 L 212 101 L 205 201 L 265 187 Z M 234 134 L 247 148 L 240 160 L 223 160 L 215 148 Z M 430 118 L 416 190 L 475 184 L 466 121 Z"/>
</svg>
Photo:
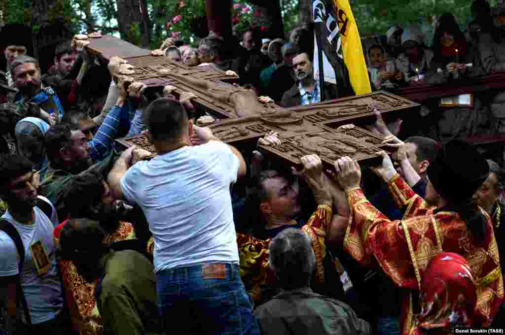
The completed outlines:
<svg viewBox="0 0 505 335">
<path fill-rule="evenodd" d="M 475 0 L 470 10 L 472 21 L 466 29 L 451 13 L 440 16 L 433 23 L 431 45 L 417 25 L 394 25 L 384 38 L 370 39 L 364 51 L 373 90 L 395 92 L 427 85 L 444 85 L 440 90 L 445 90 L 473 86 L 465 81 L 503 72 L 505 5 L 498 2 L 491 8 L 487 0 Z M 465 105 L 444 108 L 444 113 L 440 98 L 423 99 L 418 123 L 425 134 L 443 141 L 503 134 L 503 89 L 465 93 Z M 502 152 L 495 156 L 503 161 Z"/>
</svg>

